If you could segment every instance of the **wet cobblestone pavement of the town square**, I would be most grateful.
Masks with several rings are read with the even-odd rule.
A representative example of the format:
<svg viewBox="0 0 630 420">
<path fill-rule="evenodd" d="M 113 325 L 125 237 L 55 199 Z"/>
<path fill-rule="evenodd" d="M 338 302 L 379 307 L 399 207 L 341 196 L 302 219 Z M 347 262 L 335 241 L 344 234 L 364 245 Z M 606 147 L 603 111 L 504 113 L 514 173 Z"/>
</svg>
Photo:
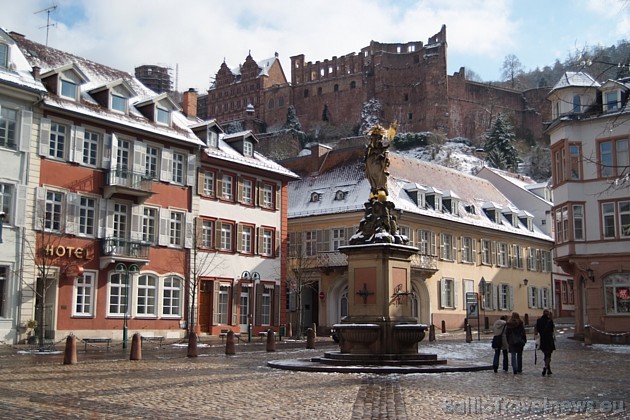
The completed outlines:
<svg viewBox="0 0 630 420">
<path fill-rule="evenodd" d="M 218 338 L 202 338 L 199 357 L 186 347 L 145 343 L 142 360 L 113 343 L 77 344 L 77 364 L 63 354 L 39 355 L 27 347 L 0 349 L 0 417 L 11 419 L 443 419 L 630 418 L 630 346 L 593 345 L 570 338 L 560 325 L 553 375 L 534 364 L 533 337 L 524 372 L 417 374 L 308 373 L 277 370 L 267 362 L 318 357 L 335 350 L 330 338 L 237 343 L 225 354 Z M 491 337 L 476 331 L 438 334 L 421 342 L 423 353 L 461 363 L 492 362 Z M 64 342 L 57 343 L 64 349 Z M 60 352 L 62 353 L 62 352 Z"/>
</svg>

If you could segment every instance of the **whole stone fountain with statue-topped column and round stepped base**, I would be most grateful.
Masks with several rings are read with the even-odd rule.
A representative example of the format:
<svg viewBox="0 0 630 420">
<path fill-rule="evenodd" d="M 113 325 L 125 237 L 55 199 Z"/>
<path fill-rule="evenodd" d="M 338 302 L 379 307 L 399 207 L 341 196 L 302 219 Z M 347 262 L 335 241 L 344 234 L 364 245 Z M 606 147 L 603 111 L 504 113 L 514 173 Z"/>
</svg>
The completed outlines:
<svg viewBox="0 0 630 420">
<path fill-rule="evenodd" d="M 308 361 L 272 361 L 280 369 L 335 372 L 412 373 L 487 370 L 491 366 L 447 367 L 445 359 L 418 352 L 428 329 L 412 316 L 411 256 L 399 234 L 396 209 L 388 201 L 386 140 L 393 129 L 377 125 L 369 133 L 365 174 L 370 196 L 357 233 L 339 247 L 348 257 L 348 316 L 334 328 L 339 351 Z"/>
</svg>

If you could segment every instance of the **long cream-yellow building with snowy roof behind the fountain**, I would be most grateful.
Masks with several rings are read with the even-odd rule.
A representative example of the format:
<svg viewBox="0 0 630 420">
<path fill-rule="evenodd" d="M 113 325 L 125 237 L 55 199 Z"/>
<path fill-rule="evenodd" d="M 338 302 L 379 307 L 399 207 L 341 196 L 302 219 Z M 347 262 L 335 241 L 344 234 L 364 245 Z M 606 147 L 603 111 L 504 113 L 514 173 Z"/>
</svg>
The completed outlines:
<svg viewBox="0 0 630 420">
<path fill-rule="evenodd" d="M 363 153 L 314 146 L 310 155 L 283 162 L 303 174 L 289 184 L 289 289 L 290 296 L 302 290 L 303 299 L 293 293 L 287 318 L 295 323 L 302 313 L 300 324 L 314 322 L 320 333 L 347 315 L 347 260 L 338 248 L 357 232 L 369 196 Z M 530 319 L 552 307 L 552 240 L 531 214 L 481 178 L 389 158 L 398 228 L 418 248 L 408 297 L 418 322 L 462 328 L 467 293 L 481 295 L 482 328 L 513 310 Z"/>
</svg>

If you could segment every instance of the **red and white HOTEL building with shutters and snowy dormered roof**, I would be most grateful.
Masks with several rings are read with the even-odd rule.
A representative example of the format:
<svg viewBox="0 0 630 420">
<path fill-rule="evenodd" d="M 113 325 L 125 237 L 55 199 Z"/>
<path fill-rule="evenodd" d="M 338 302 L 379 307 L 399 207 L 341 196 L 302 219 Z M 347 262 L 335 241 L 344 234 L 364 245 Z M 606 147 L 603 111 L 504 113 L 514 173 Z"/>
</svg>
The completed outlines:
<svg viewBox="0 0 630 420">
<path fill-rule="evenodd" d="M 48 92 L 33 119 L 21 305 L 53 340 L 182 337 L 199 120 L 128 73 L 11 35 Z"/>
</svg>

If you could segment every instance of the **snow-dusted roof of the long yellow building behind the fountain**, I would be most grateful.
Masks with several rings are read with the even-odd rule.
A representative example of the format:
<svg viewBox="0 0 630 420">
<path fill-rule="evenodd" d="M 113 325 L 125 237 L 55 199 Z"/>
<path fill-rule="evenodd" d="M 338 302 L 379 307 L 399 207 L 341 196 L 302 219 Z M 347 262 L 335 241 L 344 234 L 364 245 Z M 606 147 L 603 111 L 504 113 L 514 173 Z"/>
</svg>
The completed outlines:
<svg viewBox="0 0 630 420">
<path fill-rule="evenodd" d="M 514 227 L 512 220 L 503 218 L 498 224 L 490 220 L 483 211 L 484 203 L 492 203 L 494 208 L 509 209 L 515 214 L 520 211 L 489 181 L 468 175 L 454 169 L 433 163 L 390 153 L 390 176 L 388 178 L 389 199 L 404 213 L 414 213 L 456 223 L 487 228 L 497 231 L 524 235 L 536 239 L 552 241 L 537 227 L 530 231 L 526 226 Z M 419 188 L 421 187 L 421 188 Z M 459 216 L 435 211 L 432 208 L 419 208 L 409 190 L 451 191 L 459 197 Z M 338 191 L 345 194 L 338 195 Z M 289 219 L 315 215 L 339 214 L 363 211 L 370 192 L 370 184 L 363 171 L 361 159 L 345 161 L 317 176 L 304 177 L 289 183 Z M 311 200 L 313 193 L 320 194 Z M 342 199 L 339 199 L 342 197 Z M 466 207 L 474 206 L 476 211 L 469 213 Z M 502 213 L 501 213 L 502 214 Z M 499 215 L 503 217 L 502 215 Z M 359 220 L 357 220 L 358 224 Z M 404 222 L 403 222 L 404 224 Z"/>
</svg>

